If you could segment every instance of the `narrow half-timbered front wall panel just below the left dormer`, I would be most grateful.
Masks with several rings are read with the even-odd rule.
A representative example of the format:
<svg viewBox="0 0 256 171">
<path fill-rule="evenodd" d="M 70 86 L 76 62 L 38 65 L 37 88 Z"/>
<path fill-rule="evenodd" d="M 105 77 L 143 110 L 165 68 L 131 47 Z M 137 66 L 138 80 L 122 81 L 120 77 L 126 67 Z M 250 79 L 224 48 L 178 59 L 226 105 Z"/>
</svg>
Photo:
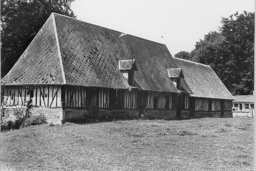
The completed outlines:
<svg viewBox="0 0 256 171">
<path fill-rule="evenodd" d="M 124 107 L 127 109 L 137 108 L 137 90 L 127 90 L 124 94 Z"/>
</svg>

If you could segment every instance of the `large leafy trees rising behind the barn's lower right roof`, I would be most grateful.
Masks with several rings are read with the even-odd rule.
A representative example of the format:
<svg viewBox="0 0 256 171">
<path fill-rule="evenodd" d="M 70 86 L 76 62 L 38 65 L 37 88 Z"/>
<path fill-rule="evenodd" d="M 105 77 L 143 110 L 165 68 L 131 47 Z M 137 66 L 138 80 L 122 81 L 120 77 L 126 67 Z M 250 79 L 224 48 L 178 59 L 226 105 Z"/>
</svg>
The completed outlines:
<svg viewBox="0 0 256 171">
<path fill-rule="evenodd" d="M 254 12 L 223 17 L 221 24 L 218 32 L 211 31 L 204 40 L 196 42 L 189 60 L 210 65 L 233 95 L 252 94 Z M 184 55 L 181 58 L 184 59 Z"/>
</svg>

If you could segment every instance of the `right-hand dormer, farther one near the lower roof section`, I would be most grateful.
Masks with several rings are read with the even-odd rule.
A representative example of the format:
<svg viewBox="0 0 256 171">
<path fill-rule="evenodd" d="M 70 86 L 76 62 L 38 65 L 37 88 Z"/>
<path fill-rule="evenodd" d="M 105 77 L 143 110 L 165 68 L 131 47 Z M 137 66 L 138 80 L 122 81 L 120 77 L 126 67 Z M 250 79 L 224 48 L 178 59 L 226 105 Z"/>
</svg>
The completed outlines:
<svg viewBox="0 0 256 171">
<path fill-rule="evenodd" d="M 183 72 L 181 68 L 172 68 L 172 69 L 167 69 L 168 71 L 168 76 L 172 80 L 174 86 L 178 90 L 181 89 L 181 78 L 184 78 Z"/>
</svg>

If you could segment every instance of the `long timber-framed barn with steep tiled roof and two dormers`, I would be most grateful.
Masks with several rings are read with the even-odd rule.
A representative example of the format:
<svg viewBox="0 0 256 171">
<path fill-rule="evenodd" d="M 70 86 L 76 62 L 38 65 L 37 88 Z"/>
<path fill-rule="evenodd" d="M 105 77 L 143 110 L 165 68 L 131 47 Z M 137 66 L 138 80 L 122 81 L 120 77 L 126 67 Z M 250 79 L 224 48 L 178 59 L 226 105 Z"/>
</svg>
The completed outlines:
<svg viewBox="0 0 256 171">
<path fill-rule="evenodd" d="M 233 96 L 208 65 L 166 45 L 52 13 L 1 80 L 1 119 L 232 117 Z"/>
</svg>

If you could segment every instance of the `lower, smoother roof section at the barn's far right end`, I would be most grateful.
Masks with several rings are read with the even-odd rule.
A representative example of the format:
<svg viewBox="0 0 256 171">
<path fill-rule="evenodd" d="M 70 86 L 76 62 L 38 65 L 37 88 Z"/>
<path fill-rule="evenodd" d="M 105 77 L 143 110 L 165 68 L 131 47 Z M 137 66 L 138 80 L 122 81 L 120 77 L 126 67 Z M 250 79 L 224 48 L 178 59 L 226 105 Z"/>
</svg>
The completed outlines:
<svg viewBox="0 0 256 171">
<path fill-rule="evenodd" d="M 179 68 L 182 68 L 185 79 L 181 85 L 186 84 L 193 91 L 192 97 L 206 97 L 219 99 L 234 99 L 219 77 L 208 65 L 174 58 Z"/>
</svg>

